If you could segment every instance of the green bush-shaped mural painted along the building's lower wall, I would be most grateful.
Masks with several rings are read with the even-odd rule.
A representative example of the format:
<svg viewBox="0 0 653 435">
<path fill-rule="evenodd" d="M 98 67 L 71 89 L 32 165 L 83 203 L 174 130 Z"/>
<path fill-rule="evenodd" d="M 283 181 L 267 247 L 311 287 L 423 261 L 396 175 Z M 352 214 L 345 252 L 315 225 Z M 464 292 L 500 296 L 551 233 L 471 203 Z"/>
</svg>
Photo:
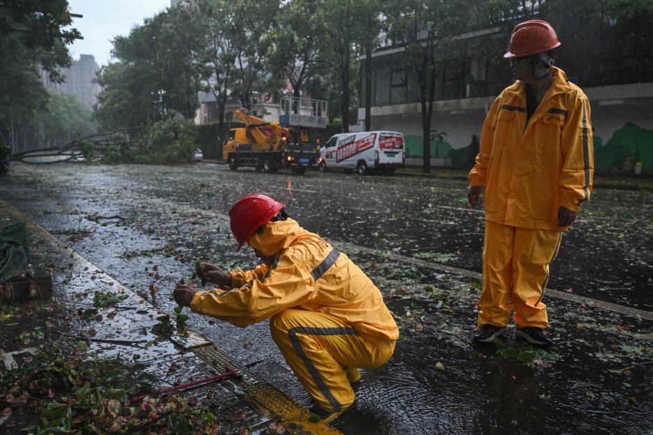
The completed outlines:
<svg viewBox="0 0 653 435">
<path fill-rule="evenodd" d="M 422 137 L 404 137 L 406 157 L 422 157 Z M 436 149 L 437 148 L 437 149 Z M 453 148 L 449 142 L 431 141 L 431 156 L 450 159 L 452 167 L 470 167 L 470 145 Z M 594 138 L 594 167 L 598 174 L 625 174 L 640 171 L 653 174 L 653 130 L 627 122 L 616 130 L 611 139 L 603 144 L 602 137 Z M 641 167 L 641 169 L 636 169 Z"/>
</svg>

